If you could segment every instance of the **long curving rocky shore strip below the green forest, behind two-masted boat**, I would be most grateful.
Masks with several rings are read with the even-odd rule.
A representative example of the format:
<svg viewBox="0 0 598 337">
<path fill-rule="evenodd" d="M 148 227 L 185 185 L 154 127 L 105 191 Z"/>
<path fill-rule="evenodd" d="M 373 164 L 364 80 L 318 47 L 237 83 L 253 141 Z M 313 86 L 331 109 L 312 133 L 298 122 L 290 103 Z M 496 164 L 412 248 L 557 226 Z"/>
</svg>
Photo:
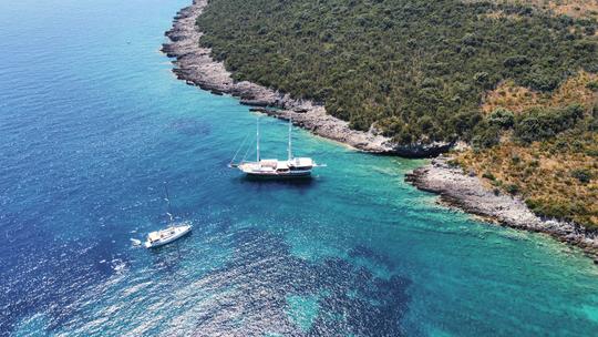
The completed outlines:
<svg viewBox="0 0 598 337">
<path fill-rule="evenodd" d="M 171 43 L 165 43 L 162 51 L 171 58 L 176 58 L 173 71 L 178 79 L 216 94 L 227 93 L 240 98 L 243 104 L 279 108 L 264 112 L 286 120 L 292 118 L 295 124 L 317 135 L 365 152 L 429 157 L 451 147 L 450 143 L 398 145 L 390 137 L 373 131 L 350 129 L 348 122 L 327 114 L 321 104 L 295 100 L 288 94 L 256 83 L 235 82 L 224 64 L 212 59 L 210 50 L 198 44 L 203 33 L 197 30 L 195 22 L 206 6 L 207 0 L 194 0 L 192 6 L 176 14 L 173 28 L 166 32 Z"/>
</svg>

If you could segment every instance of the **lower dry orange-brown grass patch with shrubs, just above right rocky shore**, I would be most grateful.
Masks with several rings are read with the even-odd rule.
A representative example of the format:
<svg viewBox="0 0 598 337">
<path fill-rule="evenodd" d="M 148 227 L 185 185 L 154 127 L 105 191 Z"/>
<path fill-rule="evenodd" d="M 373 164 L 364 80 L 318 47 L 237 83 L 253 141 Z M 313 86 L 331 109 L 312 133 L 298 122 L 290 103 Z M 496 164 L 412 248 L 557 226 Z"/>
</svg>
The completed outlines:
<svg viewBox="0 0 598 337">
<path fill-rule="evenodd" d="M 528 145 L 506 142 L 457 153 L 455 160 L 476 172 L 488 188 L 523 196 L 540 215 L 598 227 L 597 133 Z"/>
</svg>

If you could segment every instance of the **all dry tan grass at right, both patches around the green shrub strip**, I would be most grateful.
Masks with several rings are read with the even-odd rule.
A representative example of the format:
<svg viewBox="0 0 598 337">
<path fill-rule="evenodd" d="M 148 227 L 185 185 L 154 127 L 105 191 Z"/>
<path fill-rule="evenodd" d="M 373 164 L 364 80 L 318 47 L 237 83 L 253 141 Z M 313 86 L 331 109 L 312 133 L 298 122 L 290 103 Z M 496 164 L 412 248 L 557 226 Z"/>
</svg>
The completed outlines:
<svg viewBox="0 0 598 337">
<path fill-rule="evenodd" d="M 551 93 L 506 81 L 486 94 L 482 109 L 489 114 L 503 108 L 522 116 L 534 108 L 571 104 L 585 110 L 573 129 L 532 143 L 503 131 L 497 145 L 456 153 L 455 161 L 489 188 L 520 195 L 539 215 L 598 228 L 598 133 L 590 126 L 598 112 L 598 75 L 579 72 Z"/>
</svg>

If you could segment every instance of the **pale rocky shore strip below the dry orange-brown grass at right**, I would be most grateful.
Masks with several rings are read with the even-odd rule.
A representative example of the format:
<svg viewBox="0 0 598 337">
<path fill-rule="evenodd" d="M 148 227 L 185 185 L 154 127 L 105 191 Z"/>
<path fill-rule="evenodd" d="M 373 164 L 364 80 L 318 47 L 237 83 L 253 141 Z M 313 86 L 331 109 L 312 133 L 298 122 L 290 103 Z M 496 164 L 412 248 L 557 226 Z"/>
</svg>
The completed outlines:
<svg viewBox="0 0 598 337">
<path fill-rule="evenodd" d="M 422 191 L 440 194 L 443 203 L 467 213 L 504 226 L 545 233 L 578 246 L 598 263 L 598 233 L 573 223 L 540 218 L 519 197 L 488 190 L 480 177 L 451 166 L 448 160 L 448 156 L 434 159 L 431 164 L 406 174 L 405 181 Z"/>
</svg>

